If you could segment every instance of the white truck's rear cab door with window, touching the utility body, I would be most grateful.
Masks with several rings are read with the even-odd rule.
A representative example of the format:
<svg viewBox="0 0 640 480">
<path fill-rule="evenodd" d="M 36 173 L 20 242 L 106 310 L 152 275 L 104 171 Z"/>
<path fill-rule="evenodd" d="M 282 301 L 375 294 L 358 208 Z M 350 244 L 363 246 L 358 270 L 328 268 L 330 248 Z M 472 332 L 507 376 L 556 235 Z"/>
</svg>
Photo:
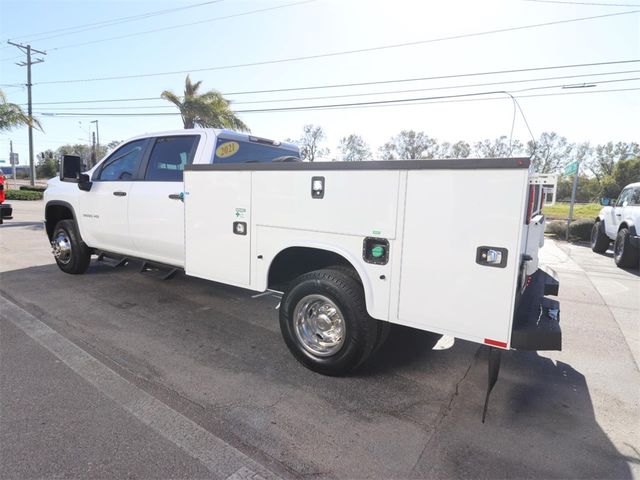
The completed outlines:
<svg viewBox="0 0 640 480">
<path fill-rule="evenodd" d="M 129 194 L 129 232 L 138 256 L 184 267 L 184 166 L 193 162 L 203 134 L 151 139 L 141 179 Z"/>
</svg>

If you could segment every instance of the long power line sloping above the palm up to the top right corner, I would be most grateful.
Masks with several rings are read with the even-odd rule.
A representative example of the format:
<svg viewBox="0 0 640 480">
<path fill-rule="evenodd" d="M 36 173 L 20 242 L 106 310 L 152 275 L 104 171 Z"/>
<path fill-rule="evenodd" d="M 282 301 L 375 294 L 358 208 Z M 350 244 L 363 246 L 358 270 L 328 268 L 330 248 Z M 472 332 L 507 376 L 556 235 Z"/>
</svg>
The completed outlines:
<svg viewBox="0 0 640 480">
<path fill-rule="evenodd" d="M 190 69 L 190 70 L 175 70 L 175 71 L 169 71 L 169 72 L 144 73 L 144 74 L 135 74 L 135 75 L 118 75 L 118 76 L 113 76 L 113 77 L 96 77 L 96 78 L 84 78 L 84 79 L 75 79 L 75 80 L 74 79 L 69 79 L 69 80 L 51 80 L 51 81 L 47 81 L 47 82 L 40 82 L 40 84 L 98 82 L 98 81 L 105 81 L 105 80 L 125 80 L 125 79 L 131 79 L 131 78 L 157 77 L 157 76 L 164 76 L 164 75 L 176 75 L 176 74 L 184 74 L 184 73 L 195 73 L 195 72 L 205 72 L 205 71 L 214 71 L 214 70 L 229 70 L 229 69 L 234 69 L 234 68 L 255 67 L 255 66 L 260 66 L 260 65 L 273 65 L 273 64 L 294 62 L 294 61 L 301 61 L 301 60 L 313 60 L 313 59 L 318 59 L 318 58 L 337 57 L 337 56 L 341 56 L 341 55 L 352 55 L 352 54 L 357 54 L 357 53 L 367 53 L 367 52 L 373 52 L 373 51 L 378 51 L 378 50 L 389 50 L 389 49 L 394 49 L 394 48 L 409 47 L 409 46 L 415 46 L 415 45 L 423 45 L 423 44 L 427 44 L 427 43 L 443 42 L 443 41 L 447 41 L 447 40 L 457 40 L 457 39 L 462 39 L 462 38 L 472 38 L 472 37 L 479 37 L 479 36 L 484 36 L 484 35 L 493 35 L 493 34 L 496 34 L 496 33 L 513 32 L 513 31 L 517 31 L 517 30 L 526 30 L 526 29 L 532 29 L 532 28 L 547 27 L 547 26 L 551 26 L 551 25 L 560 25 L 560 24 L 565 24 L 565 23 L 581 22 L 581 21 L 585 21 L 585 20 L 594 20 L 594 19 L 599 19 L 599 18 L 615 17 L 615 16 L 620 16 L 620 15 L 630 15 L 630 14 L 635 14 L 635 13 L 639 13 L 639 12 L 640 12 L 640 10 L 632 10 L 632 11 L 629 11 L 629 12 L 618 12 L 618 13 L 610 13 L 610 14 L 606 14 L 606 15 L 595 15 L 595 16 L 591 16 L 591 17 L 581 17 L 581 18 L 573 18 L 573 19 L 567 19 L 567 20 L 556 20 L 556 21 L 553 21 L 553 22 L 537 23 L 537 24 L 533 24 L 533 25 L 521 25 L 521 26 L 518 26 L 518 27 L 500 28 L 500 29 L 488 30 L 488 31 L 484 31 L 484 32 L 465 33 L 465 34 L 460 34 L 460 35 L 452 35 L 452 36 L 448 36 L 448 37 L 431 38 L 431 39 L 428 39 L 428 40 L 418 40 L 418 41 L 413 41 L 413 42 L 396 43 L 396 44 L 391 44 L 391 45 L 381 45 L 381 46 L 378 46 L 378 47 L 359 48 L 359 49 L 355 49 L 355 50 L 342 50 L 342 51 L 338 51 L 338 52 L 320 53 L 320 54 L 305 55 L 305 56 L 300 56 L 300 57 L 281 58 L 281 59 L 276 59 L 276 60 L 264 60 L 264 61 L 260 61 L 260 62 L 240 63 L 240 64 L 232 64 L 232 65 L 220 65 L 220 66 L 216 66 L 216 67 L 206 67 L 206 68 L 198 68 L 198 69 Z"/>
</svg>

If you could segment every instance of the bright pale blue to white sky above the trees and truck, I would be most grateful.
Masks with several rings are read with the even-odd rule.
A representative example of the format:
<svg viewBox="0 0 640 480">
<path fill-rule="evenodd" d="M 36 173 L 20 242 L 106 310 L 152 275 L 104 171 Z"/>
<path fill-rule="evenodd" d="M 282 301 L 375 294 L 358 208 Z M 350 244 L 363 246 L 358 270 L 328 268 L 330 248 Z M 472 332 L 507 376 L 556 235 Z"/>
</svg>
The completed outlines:
<svg viewBox="0 0 640 480">
<path fill-rule="evenodd" d="M 635 13 L 513 30 L 624 12 Z M 34 55 L 45 61 L 32 67 L 33 109 L 44 130 L 34 134 L 36 153 L 89 143 L 94 120 L 102 144 L 182 128 L 176 115 L 105 114 L 175 114 L 160 93 L 182 93 L 183 72 L 232 100 L 255 135 L 295 139 L 305 124 L 322 126 L 330 157 L 351 133 L 375 153 L 404 129 L 449 142 L 510 136 L 512 128 L 513 138 L 523 142 L 544 131 L 572 142 L 640 141 L 640 61 L 468 76 L 640 60 L 638 0 L 0 0 L 0 88 L 9 101 L 25 104 L 26 68 L 15 65 L 24 55 L 8 39 L 47 53 Z M 345 51 L 352 53 L 326 55 Z M 316 58 L 281 61 L 308 56 Z M 146 76 L 92 81 L 132 75 Z M 442 76 L 450 78 L 415 80 Z M 414 80 L 397 81 L 407 79 Z M 367 82 L 389 83 L 243 93 Z M 591 86 L 562 88 L 584 84 Z M 604 91 L 620 89 L 627 90 Z M 438 103 L 243 112 L 491 91 L 515 96 L 522 113 L 504 93 Z M 154 100 L 71 103 L 148 97 Z M 0 159 L 8 158 L 10 139 L 20 163 L 28 163 L 25 128 L 0 134 Z"/>
</svg>

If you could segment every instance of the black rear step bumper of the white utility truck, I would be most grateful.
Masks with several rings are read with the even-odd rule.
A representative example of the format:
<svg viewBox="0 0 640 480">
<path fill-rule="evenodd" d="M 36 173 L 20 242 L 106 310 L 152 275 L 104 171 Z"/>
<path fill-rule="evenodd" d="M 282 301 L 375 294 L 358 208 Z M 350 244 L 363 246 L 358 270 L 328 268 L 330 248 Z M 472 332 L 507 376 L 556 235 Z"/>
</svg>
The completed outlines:
<svg viewBox="0 0 640 480">
<path fill-rule="evenodd" d="M 516 350 L 562 350 L 560 302 L 545 295 L 558 295 L 560 282 L 554 271 L 539 269 L 531 277 L 516 307 L 511 348 Z"/>
</svg>

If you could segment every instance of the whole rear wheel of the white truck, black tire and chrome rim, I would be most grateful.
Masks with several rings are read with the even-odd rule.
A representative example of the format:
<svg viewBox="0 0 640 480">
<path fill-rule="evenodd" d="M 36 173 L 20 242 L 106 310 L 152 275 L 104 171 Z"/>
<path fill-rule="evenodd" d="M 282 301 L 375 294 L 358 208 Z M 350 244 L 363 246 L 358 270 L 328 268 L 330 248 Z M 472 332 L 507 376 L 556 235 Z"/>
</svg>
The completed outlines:
<svg viewBox="0 0 640 480">
<path fill-rule="evenodd" d="M 292 285 L 282 298 L 280 330 L 296 359 L 323 375 L 343 375 L 362 364 L 377 337 L 362 285 L 331 269 L 301 275 Z"/>
</svg>

